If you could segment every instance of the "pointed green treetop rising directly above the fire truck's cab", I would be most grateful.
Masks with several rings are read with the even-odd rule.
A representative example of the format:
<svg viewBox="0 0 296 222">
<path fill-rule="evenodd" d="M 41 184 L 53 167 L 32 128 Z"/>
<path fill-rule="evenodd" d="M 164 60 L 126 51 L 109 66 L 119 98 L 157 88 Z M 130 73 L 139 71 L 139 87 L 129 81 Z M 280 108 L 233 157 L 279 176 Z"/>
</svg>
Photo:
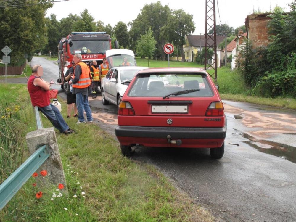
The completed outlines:
<svg viewBox="0 0 296 222">
<path fill-rule="evenodd" d="M 75 32 L 94 32 L 96 30 L 96 22 L 94 22 L 94 17 L 91 16 L 87 9 L 84 9 L 80 13 L 80 18 L 73 25 L 73 30 Z"/>
</svg>

